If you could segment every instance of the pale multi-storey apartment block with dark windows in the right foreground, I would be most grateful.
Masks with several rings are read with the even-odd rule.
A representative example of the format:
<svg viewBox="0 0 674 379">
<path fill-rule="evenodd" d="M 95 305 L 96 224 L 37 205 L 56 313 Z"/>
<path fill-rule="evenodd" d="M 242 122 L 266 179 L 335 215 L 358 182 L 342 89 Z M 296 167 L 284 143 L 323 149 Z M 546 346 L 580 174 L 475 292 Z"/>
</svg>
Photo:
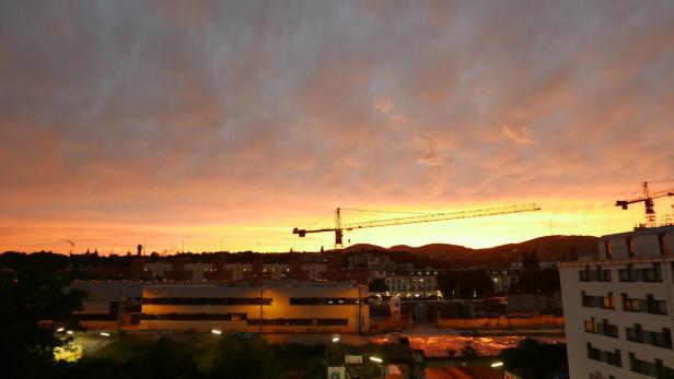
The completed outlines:
<svg viewBox="0 0 674 379">
<path fill-rule="evenodd" d="M 559 275 L 571 378 L 674 378 L 674 226 L 603 236 Z"/>
</svg>

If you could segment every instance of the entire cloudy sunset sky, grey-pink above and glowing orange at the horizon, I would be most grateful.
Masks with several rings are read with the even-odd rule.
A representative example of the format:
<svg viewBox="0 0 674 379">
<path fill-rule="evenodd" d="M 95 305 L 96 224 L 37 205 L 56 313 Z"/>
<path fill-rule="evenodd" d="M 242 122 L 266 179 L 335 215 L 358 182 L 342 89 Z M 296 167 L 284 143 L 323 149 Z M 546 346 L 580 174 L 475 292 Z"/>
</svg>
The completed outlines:
<svg viewBox="0 0 674 379">
<path fill-rule="evenodd" d="M 674 179 L 674 2 L 0 1 L 0 251 L 627 230 Z"/>
</svg>

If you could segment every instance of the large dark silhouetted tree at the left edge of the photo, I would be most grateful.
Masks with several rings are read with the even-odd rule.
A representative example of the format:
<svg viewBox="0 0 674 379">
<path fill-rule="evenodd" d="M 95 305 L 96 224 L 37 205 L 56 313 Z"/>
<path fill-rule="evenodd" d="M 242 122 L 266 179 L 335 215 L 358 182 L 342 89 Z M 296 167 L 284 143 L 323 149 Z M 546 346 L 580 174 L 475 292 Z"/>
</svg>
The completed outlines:
<svg viewBox="0 0 674 379">
<path fill-rule="evenodd" d="M 71 282 L 67 265 L 66 257 L 53 253 L 0 256 L 0 377 L 44 376 L 54 348 L 69 341 L 56 329 L 81 329 L 72 312 L 85 294 L 65 289 Z"/>
</svg>

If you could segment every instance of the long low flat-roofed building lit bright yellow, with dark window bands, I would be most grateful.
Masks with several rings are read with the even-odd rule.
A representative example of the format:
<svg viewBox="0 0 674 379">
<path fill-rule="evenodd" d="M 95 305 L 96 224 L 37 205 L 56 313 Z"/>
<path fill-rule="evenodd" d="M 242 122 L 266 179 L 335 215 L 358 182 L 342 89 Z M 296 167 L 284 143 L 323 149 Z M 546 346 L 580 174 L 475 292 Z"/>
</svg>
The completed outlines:
<svg viewBox="0 0 674 379">
<path fill-rule="evenodd" d="M 143 288 L 140 329 L 362 332 L 368 287 L 352 283 L 269 286 L 158 285 Z"/>
</svg>

